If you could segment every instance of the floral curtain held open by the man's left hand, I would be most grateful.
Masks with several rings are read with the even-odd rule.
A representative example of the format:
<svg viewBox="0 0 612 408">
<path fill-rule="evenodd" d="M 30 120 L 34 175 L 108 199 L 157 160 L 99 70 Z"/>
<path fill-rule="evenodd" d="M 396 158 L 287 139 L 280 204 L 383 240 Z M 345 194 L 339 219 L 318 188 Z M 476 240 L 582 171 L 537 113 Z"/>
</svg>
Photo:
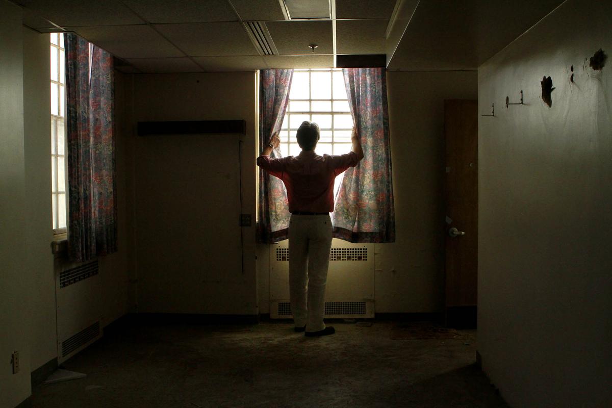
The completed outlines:
<svg viewBox="0 0 612 408">
<path fill-rule="evenodd" d="M 272 133 L 279 132 L 289 102 L 291 69 L 259 71 L 259 151 L 269 143 Z M 282 157 L 274 149 L 271 157 Z M 259 242 L 273 243 L 289 237 L 289 204 L 285 184 L 259 169 Z"/>
</svg>

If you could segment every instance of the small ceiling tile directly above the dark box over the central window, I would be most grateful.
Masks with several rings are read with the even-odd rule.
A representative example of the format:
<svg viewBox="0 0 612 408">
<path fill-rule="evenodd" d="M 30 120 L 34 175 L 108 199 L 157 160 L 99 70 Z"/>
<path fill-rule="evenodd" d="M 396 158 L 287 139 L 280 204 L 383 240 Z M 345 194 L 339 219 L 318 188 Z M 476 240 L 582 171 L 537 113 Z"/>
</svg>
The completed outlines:
<svg viewBox="0 0 612 408">
<path fill-rule="evenodd" d="M 384 54 L 384 33 L 389 20 L 341 20 L 336 22 L 338 54 Z"/>
</svg>

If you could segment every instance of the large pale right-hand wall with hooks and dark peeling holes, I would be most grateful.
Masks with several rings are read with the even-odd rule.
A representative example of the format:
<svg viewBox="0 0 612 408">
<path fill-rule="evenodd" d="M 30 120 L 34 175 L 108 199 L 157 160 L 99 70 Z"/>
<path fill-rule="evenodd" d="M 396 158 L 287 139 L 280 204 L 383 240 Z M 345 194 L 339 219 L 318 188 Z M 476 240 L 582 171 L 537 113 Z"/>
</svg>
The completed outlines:
<svg viewBox="0 0 612 408">
<path fill-rule="evenodd" d="M 612 406 L 611 26 L 569 0 L 479 68 L 478 348 L 513 407 Z"/>
</svg>

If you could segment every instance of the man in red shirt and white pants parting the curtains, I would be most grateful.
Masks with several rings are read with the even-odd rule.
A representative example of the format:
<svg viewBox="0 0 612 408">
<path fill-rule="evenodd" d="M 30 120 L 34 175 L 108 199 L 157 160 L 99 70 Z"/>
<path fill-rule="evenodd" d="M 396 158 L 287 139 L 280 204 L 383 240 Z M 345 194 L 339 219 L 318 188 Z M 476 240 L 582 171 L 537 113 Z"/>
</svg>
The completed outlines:
<svg viewBox="0 0 612 408">
<path fill-rule="evenodd" d="M 325 286 L 329 251 L 332 246 L 334 180 L 341 172 L 364 158 L 359 138 L 353 128 L 351 152 L 343 155 L 315 153 L 319 126 L 304 121 L 297 130 L 302 152 L 296 157 L 271 158 L 280 139 L 275 133 L 257 158 L 257 165 L 283 180 L 287 189 L 289 212 L 289 297 L 296 332 L 306 336 L 335 333 L 323 322 Z"/>
</svg>

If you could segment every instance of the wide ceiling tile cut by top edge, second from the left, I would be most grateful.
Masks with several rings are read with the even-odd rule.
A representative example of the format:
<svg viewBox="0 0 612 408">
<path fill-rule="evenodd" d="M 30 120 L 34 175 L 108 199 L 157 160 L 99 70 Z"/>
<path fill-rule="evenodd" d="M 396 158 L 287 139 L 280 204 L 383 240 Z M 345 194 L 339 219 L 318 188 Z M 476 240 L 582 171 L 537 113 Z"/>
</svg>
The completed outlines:
<svg viewBox="0 0 612 408">
<path fill-rule="evenodd" d="M 204 23 L 237 21 L 227 0 L 124 0 L 149 23 Z"/>
</svg>

